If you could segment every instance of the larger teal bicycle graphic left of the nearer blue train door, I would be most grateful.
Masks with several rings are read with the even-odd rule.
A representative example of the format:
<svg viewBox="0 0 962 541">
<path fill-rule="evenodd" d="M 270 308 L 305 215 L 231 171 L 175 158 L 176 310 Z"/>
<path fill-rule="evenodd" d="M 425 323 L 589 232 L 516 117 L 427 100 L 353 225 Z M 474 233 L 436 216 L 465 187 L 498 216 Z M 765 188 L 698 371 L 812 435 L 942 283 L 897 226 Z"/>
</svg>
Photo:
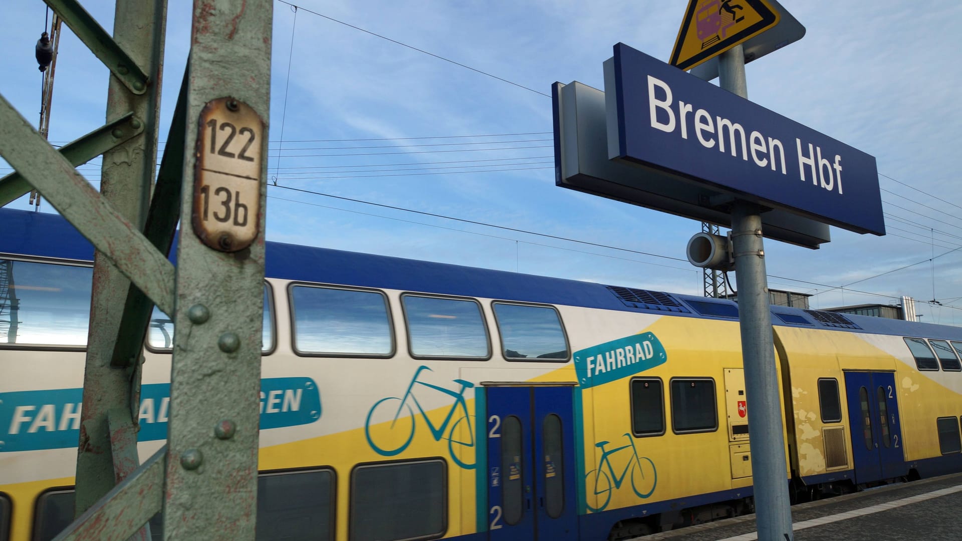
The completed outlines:
<svg viewBox="0 0 962 541">
<path fill-rule="evenodd" d="M 461 389 L 452 391 L 431 383 L 419 381 L 418 376 L 424 371 L 432 372 L 431 369 L 426 366 L 419 367 L 418 372 L 411 378 L 411 383 L 408 384 L 408 390 L 405 391 L 404 397 L 400 399 L 397 397 L 388 397 L 387 399 L 380 399 L 374 402 L 370 411 L 367 412 L 367 421 L 365 421 L 364 426 L 367 445 L 383 456 L 394 456 L 407 449 L 415 437 L 416 418 L 414 408 L 411 407 L 411 404 L 414 403 L 421 414 L 421 418 L 424 419 L 424 423 L 431 431 L 434 441 L 438 442 L 441 441 L 442 438 L 446 439 L 447 451 L 451 453 L 451 459 L 454 460 L 458 466 L 467 470 L 473 470 L 474 462 L 468 463 L 463 460 L 461 451 L 474 447 L 474 430 L 471 427 L 468 402 L 465 400 L 465 391 L 474 387 L 474 384 L 464 379 L 454 379 L 453 382 L 461 385 Z M 454 398 L 454 403 L 451 404 L 451 409 L 448 410 L 441 425 L 435 426 L 434 423 L 431 423 L 431 419 L 420 405 L 418 396 L 415 394 L 416 384 L 421 387 L 434 389 L 435 391 Z M 378 414 L 375 414 L 375 411 L 377 411 Z M 391 417 L 390 425 L 378 423 L 375 423 L 373 426 L 371 425 L 371 419 L 385 419 L 388 417 Z M 451 423 L 452 419 L 454 419 L 454 423 Z M 466 425 L 461 427 L 462 423 Z M 448 425 L 450 425 L 450 429 L 448 429 Z M 465 432 L 464 435 L 459 436 L 459 427 L 461 427 L 462 432 Z M 447 432 L 446 437 L 444 436 L 445 431 Z"/>
</svg>

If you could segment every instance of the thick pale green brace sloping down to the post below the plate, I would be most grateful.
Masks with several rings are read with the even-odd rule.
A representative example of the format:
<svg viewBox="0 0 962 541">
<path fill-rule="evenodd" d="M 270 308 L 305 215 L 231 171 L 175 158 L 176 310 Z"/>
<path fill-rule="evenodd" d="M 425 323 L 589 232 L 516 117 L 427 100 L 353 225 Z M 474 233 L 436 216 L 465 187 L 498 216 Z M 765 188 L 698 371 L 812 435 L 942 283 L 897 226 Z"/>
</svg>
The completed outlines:
<svg viewBox="0 0 962 541">
<path fill-rule="evenodd" d="M 0 157 L 20 172 L 117 270 L 165 314 L 173 314 L 174 266 L 120 216 L 0 95 Z"/>
</svg>

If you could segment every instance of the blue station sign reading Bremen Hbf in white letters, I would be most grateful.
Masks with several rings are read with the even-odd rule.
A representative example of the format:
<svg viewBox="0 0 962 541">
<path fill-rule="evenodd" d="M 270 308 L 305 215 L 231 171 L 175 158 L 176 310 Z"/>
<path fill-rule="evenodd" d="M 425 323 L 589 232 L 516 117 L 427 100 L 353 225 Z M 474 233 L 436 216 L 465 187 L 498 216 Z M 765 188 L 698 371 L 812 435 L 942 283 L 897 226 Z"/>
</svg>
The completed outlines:
<svg viewBox="0 0 962 541">
<path fill-rule="evenodd" d="M 605 99 L 615 100 L 606 105 L 610 158 L 885 234 L 875 159 L 865 152 L 623 43 L 605 64 Z"/>
</svg>

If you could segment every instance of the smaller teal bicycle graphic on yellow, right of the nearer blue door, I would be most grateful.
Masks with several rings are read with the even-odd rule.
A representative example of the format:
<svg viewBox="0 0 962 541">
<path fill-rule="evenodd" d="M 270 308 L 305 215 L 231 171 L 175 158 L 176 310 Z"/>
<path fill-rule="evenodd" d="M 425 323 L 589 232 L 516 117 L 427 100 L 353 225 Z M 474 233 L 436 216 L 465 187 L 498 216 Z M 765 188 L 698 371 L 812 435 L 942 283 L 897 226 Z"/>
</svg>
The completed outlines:
<svg viewBox="0 0 962 541">
<path fill-rule="evenodd" d="M 595 447 L 601 450 L 601 460 L 598 461 L 598 467 L 595 470 L 585 475 L 585 490 L 588 491 L 589 495 L 594 494 L 597 497 L 596 507 L 593 507 L 591 505 L 591 499 L 588 499 L 589 503 L 587 503 L 587 505 L 592 512 L 596 513 L 608 506 L 608 502 L 611 502 L 611 491 L 618 490 L 624 482 L 625 477 L 631 478 L 631 489 L 635 491 L 635 494 L 639 498 L 643 499 L 651 496 L 655 491 L 655 485 L 658 484 L 658 472 L 655 469 L 655 463 L 647 456 L 638 455 L 638 448 L 635 447 L 635 439 L 631 437 L 630 433 L 625 433 L 624 436 L 628 438 L 628 445 L 623 445 L 612 450 L 605 451 L 604 449 L 604 447 L 611 442 L 598 442 L 595 444 Z M 615 468 L 611 464 L 611 455 L 629 448 L 632 451 L 631 458 L 629 458 L 628 463 L 624 465 L 621 475 L 615 475 Z M 607 471 L 604 469 L 605 466 L 607 466 Z M 614 486 L 612 486 L 613 481 Z"/>
</svg>

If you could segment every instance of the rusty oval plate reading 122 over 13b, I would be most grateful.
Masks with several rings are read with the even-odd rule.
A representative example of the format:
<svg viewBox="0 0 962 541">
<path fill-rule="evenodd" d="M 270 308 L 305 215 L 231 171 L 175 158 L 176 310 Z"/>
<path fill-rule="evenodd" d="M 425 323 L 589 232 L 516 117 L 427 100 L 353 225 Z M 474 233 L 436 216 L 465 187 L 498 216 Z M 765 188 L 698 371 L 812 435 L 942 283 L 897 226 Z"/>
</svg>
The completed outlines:
<svg viewBox="0 0 962 541">
<path fill-rule="evenodd" d="M 246 104 L 219 98 L 201 112 L 193 228 L 205 244 L 238 251 L 257 237 L 264 122 Z"/>
</svg>

